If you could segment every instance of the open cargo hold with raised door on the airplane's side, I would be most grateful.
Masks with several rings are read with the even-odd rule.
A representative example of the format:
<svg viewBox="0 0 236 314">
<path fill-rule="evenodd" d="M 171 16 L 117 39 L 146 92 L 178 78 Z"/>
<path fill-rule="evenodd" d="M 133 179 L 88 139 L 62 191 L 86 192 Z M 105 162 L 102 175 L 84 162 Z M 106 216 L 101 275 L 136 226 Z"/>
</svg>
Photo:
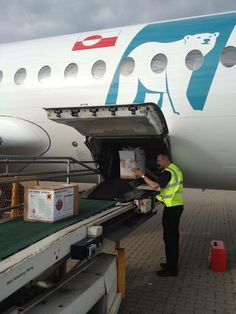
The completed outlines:
<svg viewBox="0 0 236 314">
<path fill-rule="evenodd" d="M 120 177 L 119 151 L 126 147 L 143 149 L 146 168 L 151 171 L 157 170 L 159 152 L 170 153 L 168 127 L 154 103 L 45 110 L 50 120 L 71 126 L 85 136 L 104 180 Z"/>
</svg>

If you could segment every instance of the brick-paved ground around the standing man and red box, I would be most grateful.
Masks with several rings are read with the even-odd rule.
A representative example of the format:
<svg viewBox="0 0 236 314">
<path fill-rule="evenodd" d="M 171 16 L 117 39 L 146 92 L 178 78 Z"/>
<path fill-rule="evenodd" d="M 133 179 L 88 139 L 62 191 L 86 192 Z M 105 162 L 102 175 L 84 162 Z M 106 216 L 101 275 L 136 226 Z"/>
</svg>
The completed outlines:
<svg viewBox="0 0 236 314">
<path fill-rule="evenodd" d="M 165 261 L 162 207 L 121 241 L 127 286 L 119 314 L 236 313 L 236 192 L 185 189 L 178 277 L 156 276 Z M 208 265 L 211 240 L 223 240 L 227 271 Z M 112 251 L 109 243 L 106 249 Z"/>
</svg>

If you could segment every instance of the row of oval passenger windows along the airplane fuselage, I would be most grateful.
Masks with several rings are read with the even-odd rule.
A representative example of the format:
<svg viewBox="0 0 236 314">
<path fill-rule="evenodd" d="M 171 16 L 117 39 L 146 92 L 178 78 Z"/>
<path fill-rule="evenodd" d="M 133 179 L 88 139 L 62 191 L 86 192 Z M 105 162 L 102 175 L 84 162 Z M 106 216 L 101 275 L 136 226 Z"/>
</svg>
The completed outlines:
<svg viewBox="0 0 236 314">
<path fill-rule="evenodd" d="M 200 50 L 190 51 L 185 58 L 185 65 L 191 71 L 200 69 L 204 62 L 204 56 Z M 236 47 L 228 46 L 223 49 L 220 55 L 220 62 L 225 67 L 232 67 L 236 64 Z M 159 53 L 155 55 L 151 60 L 151 70 L 156 73 L 162 73 L 167 67 L 167 57 Z M 124 59 L 120 65 L 120 73 L 123 76 L 129 76 L 135 69 L 135 60 L 131 57 Z M 102 78 L 106 73 L 106 63 L 103 60 L 96 61 L 91 69 L 91 74 L 95 79 Z M 66 80 L 75 80 L 78 75 L 78 65 L 76 63 L 70 63 L 64 71 L 64 77 Z M 16 85 L 24 83 L 27 76 L 25 68 L 20 68 L 16 71 L 14 76 L 14 82 Z M 51 68 L 49 65 L 43 66 L 38 72 L 38 81 L 40 83 L 47 82 L 51 77 Z M 0 83 L 3 81 L 3 72 L 0 70 Z"/>
</svg>

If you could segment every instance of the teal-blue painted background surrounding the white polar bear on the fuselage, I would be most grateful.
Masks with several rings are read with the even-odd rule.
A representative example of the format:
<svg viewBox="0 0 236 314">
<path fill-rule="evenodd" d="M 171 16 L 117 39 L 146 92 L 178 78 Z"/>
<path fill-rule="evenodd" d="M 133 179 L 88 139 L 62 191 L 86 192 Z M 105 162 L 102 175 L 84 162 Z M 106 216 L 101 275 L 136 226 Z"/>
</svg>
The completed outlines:
<svg viewBox="0 0 236 314">
<path fill-rule="evenodd" d="M 217 38 L 215 38 L 214 46 L 212 46 L 212 49 L 209 49 L 209 51 L 204 56 L 203 65 L 199 68 L 199 70 L 193 71 L 191 73 L 186 89 L 186 97 L 192 109 L 203 110 L 220 60 L 221 51 L 224 49 L 235 24 L 236 14 L 231 13 L 218 16 L 194 18 L 189 20 L 150 24 L 145 26 L 133 38 L 125 50 L 123 56 L 121 57 L 108 91 L 106 104 L 109 105 L 117 103 L 120 84 L 120 65 L 124 59 L 130 56 L 130 54 L 141 45 L 147 43 L 161 43 L 162 45 L 163 43 L 170 44 L 173 42 L 180 42 L 183 39 L 186 40 L 189 37 L 197 36 L 197 34 L 209 34 L 212 36 L 217 34 L 215 35 Z M 210 45 L 210 38 L 202 38 L 201 40 L 201 44 L 204 45 L 204 47 Z M 161 108 L 163 97 L 164 95 L 167 95 L 173 112 L 178 113 L 175 110 L 169 88 L 169 71 L 170 70 L 168 69 L 167 65 L 165 72 L 165 90 L 158 90 L 158 88 L 157 90 L 151 90 L 144 86 L 140 80 L 138 80 L 137 93 L 136 96 L 132 99 L 132 102 L 142 103 L 145 101 L 145 96 L 147 94 L 157 94 L 156 103 Z"/>
</svg>

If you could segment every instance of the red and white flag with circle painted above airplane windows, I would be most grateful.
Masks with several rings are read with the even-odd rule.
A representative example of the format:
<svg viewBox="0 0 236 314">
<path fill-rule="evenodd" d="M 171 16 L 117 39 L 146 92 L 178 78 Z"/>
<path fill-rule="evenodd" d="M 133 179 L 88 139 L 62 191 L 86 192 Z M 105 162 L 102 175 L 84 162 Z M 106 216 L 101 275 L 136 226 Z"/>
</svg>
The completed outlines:
<svg viewBox="0 0 236 314">
<path fill-rule="evenodd" d="M 116 44 L 118 35 L 119 31 L 81 36 L 74 44 L 72 51 L 113 47 Z"/>
</svg>

